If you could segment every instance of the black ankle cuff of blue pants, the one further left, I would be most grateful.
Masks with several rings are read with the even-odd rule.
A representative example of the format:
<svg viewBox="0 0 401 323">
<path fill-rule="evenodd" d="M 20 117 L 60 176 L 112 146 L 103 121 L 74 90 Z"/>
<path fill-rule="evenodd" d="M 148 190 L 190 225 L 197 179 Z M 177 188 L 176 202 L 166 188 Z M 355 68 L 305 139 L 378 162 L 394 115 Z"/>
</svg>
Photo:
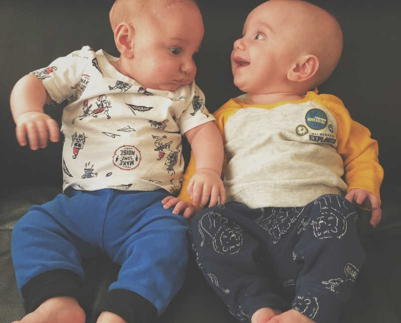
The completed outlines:
<svg viewBox="0 0 401 323">
<path fill-rule="evenodd" d="M 69 296 L 79 301 L 81 286 L 81 278 L 73 271 L 56 269 L 43 272 L 22 288 L 25 309 L 32 312 L 45 300 L 57 296 Z"/>
</svg>

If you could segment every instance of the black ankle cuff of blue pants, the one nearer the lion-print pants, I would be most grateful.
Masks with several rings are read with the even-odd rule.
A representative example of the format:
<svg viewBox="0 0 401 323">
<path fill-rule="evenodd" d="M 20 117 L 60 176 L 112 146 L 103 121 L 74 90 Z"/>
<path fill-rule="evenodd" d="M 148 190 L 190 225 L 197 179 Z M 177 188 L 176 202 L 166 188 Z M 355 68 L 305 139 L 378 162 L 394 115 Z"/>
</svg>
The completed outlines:
<svg viewBox="0 0 401 323">
<path fill-rule="evenodd" d="M 128 323 L 150 323 L 157 316 L 157 309 L 150 301 L 127 289 L 108 291 L 100 309 L 115 313 Z"/>
</svg>

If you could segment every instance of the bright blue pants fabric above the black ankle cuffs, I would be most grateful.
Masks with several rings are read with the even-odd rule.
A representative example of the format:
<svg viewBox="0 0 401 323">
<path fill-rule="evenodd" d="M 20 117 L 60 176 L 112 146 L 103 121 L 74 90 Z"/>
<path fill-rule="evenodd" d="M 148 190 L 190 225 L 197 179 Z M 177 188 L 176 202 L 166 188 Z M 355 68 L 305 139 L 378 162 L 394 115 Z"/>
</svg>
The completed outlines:
<svg viewBox="0 0 401 323">
<path fill-rule="evenodd" d="M 72 272 L 83 280 L 82 258 L 105 254 L 121 264 L 109 290 L 134 292 L 162 313 L 183 284 L 188 259 L 188 223 L 162 207 L 168 195 L 73 190 L 33 206 L 12 235 L 20 291 L 47 272 Z"/>
</svg>

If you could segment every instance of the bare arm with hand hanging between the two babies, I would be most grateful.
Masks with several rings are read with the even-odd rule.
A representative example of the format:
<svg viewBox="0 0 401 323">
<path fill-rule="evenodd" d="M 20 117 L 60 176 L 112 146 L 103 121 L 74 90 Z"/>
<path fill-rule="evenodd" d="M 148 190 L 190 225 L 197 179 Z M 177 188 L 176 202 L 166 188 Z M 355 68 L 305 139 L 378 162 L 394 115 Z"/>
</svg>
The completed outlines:
<svg viewBox="0 0 401 323">
<path fill-rule="evenodd" d="M 187 186 L 187 192 L 195 206 L 225 203 L 226 193 L 221 179 L 224 148 L 223 139 L 214 122 L 207 122 L 185 133 L 196 160 L 195 173 Z"/>
</svg>

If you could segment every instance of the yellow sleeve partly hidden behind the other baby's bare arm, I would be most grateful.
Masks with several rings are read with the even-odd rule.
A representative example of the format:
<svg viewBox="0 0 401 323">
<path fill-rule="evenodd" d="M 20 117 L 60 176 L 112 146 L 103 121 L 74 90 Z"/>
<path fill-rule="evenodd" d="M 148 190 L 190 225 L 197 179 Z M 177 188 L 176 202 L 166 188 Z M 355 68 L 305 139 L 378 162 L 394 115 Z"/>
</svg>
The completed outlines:
<svg viewBox="0 0 401 323">
<path fill-rule="evenodd" d="M 223 137 L 223 143 L 224 143 L 224 126 L 228 118 L 234 114 L 238 110 L 238 104 L 234 101 L 234 99 L 229 100 L 226 102 L 223 106 L 221 106 L 216 112 L 213 114 L 215 117 L 215 123 L 217 127 L 220 130 L 220 133 Z M 224 163 L 223 163 L 223 171 L 224 167 L 226 165 L 226 154 L 224 154 Z M 181 190 L 177 196 L 182 201 L 192 203 L 192 200 L 189 197 L 188 192 L 186 191 L 186 188 L 189 184 L 189 181 L 192 177 L 192 175 L 195 173 L 196 167 L 195 167 L 195 158 L 191 152 L 190 159 L 188 166 L 185 169 L 183 180 L 182 180 L 182 186 Z M 222 172 L 222 177 L 223 177 L 223 172 Z"/>
</svg>

